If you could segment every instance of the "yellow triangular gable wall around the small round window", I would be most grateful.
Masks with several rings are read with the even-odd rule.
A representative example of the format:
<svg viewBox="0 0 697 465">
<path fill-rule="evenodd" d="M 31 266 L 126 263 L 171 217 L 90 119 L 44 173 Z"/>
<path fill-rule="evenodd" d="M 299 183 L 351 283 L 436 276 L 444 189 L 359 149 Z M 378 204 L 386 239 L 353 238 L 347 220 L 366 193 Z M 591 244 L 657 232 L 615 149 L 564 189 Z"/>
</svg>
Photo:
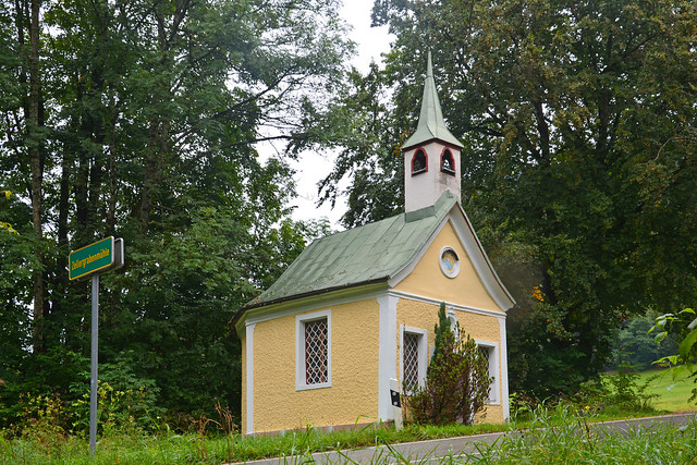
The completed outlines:
<svg viewBox="0 0 697 465">
<path fill-rule="evenodd" d="M 444 246 L 452 247 L 460 257 L 460 273 L 455 278 L 448 278 L 440 269 L 440 252 Z M 450 221 L 414 270 L 394 289 L 438 301 L 501 311 L 477 276 Z"/>
</svg>

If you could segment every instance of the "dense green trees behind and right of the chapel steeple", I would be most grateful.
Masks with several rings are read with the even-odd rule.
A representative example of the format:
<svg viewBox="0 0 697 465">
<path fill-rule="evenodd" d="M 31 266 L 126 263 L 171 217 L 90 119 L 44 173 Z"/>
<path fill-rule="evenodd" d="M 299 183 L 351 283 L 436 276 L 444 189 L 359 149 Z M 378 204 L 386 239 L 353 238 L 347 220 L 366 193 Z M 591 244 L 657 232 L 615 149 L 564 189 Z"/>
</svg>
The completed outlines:
<svg viewBox="0 0 697 465">
<path fill-rule="evenodd" d="M 512 391 L 573 394 L 632 315 L 690 305 L 694 1 L 378 0 L 372 13 L 396 38 L 384 70 L 318 115 L 343 147 L 325 194 L 350 178 L 346 225 L 402 208 L 399 147 L 430 49 L 465 145 L 462 205 L 517 302 Z"/>
</svg>

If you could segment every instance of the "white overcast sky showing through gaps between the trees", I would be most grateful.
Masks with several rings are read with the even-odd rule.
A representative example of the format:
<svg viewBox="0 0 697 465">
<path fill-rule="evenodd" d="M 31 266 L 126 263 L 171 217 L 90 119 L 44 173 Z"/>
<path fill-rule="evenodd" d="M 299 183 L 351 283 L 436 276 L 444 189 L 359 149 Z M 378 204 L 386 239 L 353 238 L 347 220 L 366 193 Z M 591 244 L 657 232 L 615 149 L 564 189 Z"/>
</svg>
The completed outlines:
<svg viewBox="0 0 697 465">
<path fill-rule="evenodd" d="M 390 48 L 391 37 L 387 32 L 387 26 L 370 27 L 370 10 L 372 0 L 344 0 L 341 14 L 346 22 L 353 25 L 350 38 L 357 45 L 357 56 L 351 61 L 362 72 L 368 71 L 371 60 L 381 63 L 380 53 L 384 53 Z M 296 206 L 293 212 L 295 220 L 317 220 L 322 217 L 329 218 L 332 229 L 339 227 L 339 220 L 346 211 L 344 198 L 340 198 L 332 209 L 330 205 L 316 207 L 317 182 L 329 174 L 333 168 L 333 159 L 326 158 L 315 152 L 305 152 L 298 161 L 292 161 L 291 167 L 296 171 L 295 183 L 298 197 L 291 204 Z M 346 185 L 343 186 L 345 188 Z"/>
</svg>

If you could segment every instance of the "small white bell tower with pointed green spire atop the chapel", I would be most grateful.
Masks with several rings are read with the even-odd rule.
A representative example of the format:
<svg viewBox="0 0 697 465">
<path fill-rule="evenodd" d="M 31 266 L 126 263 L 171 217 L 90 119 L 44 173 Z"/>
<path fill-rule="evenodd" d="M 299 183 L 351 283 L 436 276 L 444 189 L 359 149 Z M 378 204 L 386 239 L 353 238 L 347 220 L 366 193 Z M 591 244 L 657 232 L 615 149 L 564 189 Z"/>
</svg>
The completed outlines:
<svg viewBox="0 0 697 465">
<path fill-rule="evenodd" d="M 462 148 L 462 143 L 445 126 L 429 51 L 418 125 L 402 146 L 404 211 L 436 204 L 444 191 L 450 191 L 460 201 Z"/>
</svg>

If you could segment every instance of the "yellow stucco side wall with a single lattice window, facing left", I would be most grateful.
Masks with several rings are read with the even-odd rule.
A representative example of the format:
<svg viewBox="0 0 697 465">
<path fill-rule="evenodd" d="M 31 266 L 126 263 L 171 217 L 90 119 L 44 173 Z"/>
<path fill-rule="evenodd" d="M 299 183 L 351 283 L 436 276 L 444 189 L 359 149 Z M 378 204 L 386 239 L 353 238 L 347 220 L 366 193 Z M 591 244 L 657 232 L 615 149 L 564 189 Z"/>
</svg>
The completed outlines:
<svg viewBox="0 0 697 465">
<path fill-rule="evenodd" d="M 295 317 L 326 309 L 331 310 L 332 386 L 296 391 Z M 257 323 L 254 330 L 255 432 L 377 419 L 378 335 L 379 307 L 375 298 Z M 243 391 L 243 415 L 246 415 Z M 246 416 L 243 425 L 245 420 Z"/>
</svg>

